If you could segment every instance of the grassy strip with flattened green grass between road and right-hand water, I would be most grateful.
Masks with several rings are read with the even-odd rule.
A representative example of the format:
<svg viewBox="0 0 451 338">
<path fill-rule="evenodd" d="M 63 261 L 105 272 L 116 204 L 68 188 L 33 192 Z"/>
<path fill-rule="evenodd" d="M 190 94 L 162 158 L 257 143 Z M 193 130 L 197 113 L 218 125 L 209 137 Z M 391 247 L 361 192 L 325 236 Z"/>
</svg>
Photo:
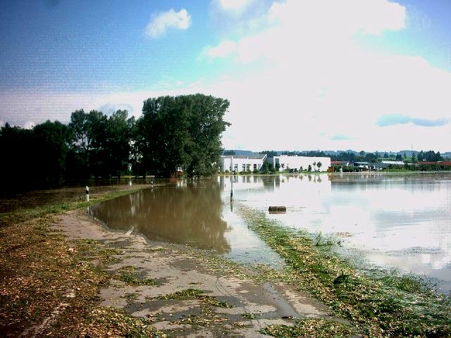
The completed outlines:
<svg viewBox="0 0 451 338">
<path fill-rule="evenodd" d="M 239 211 L 247 225 L 290 265 L 297 287 L 328 304 L 335 315 L 350 320 L 362 334 L 451 337 L 450 296 L 414 277 L 359 273 L 330 250 L 332 241 L 311 239 L 252 208 L 240 206 Z M 276 328 L 279 332 L 295 330 Z M 268 333 L 276 328 L 269 327 Z"/>
</svg>

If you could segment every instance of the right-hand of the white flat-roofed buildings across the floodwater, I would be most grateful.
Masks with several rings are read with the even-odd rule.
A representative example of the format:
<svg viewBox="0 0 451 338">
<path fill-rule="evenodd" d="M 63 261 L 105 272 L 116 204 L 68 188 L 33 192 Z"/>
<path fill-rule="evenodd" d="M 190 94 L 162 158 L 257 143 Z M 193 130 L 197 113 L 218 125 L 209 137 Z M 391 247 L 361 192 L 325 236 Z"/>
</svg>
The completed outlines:
<svg viewBox="0 0 451 338">
<path fill-rule="evenodd" d="M 273 165 L 273 168 L 279 168 L 279 171 L 286 169 L 307 170 L 311 165 L 311 171 L 326 171 L 330 167 L 330 157 L 308 157 L 308 156 L 274 156 L 266 158 L 266 161 Z M 315 164 L 314 164 L 315 163 Z M 318 167 L 321 163 L 321 167 Z"/>
</svg>

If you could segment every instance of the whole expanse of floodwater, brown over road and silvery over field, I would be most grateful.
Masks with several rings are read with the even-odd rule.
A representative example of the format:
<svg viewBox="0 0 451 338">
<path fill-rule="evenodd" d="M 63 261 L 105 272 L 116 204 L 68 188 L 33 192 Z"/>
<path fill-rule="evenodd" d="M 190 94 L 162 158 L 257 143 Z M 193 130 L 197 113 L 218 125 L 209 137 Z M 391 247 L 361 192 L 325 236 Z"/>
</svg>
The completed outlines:
<svg viewBox="0 0 451 338">
<path fill-rule="evenodd" d="M 233 202 L 230 190 L 233 189 Z M 108 227 L 148 239 L 214 249 L 242 262 L 280 264 L 234 205 L 340 241 L 340 253 L 372 267 L 426 276 L 451 291 L 451 173 L 235 176 L 183 180 L 92 206 Z"/>
</svg>

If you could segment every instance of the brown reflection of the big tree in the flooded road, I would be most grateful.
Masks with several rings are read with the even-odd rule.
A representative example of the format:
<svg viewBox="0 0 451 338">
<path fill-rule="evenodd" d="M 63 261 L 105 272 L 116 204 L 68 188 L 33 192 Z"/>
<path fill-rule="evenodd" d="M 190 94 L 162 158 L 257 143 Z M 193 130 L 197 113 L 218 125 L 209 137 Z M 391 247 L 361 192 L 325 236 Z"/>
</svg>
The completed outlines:
<svg viewBox="0 0 451 338">
<path fill-rule="evenodd" d="M 202 248 L 230 251 L 221 219 L 221 186 L 217 182 L 187 187 L 147 189 L 93 208 L 95 217 L 109 227 L 142 232 L 149 239 L 192 243 Z"/>
</svg>

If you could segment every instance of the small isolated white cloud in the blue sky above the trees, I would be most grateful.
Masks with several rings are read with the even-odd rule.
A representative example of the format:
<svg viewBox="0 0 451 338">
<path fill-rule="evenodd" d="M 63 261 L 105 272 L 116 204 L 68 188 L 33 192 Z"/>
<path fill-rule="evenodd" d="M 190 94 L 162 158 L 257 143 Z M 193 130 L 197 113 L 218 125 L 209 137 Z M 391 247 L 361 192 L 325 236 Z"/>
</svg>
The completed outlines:
<svg viewBox="0 0 451 338">
<path fill-rule="evenodd" d="M 185 8 L 179 12 L 173 9 L 154 15 L 146 27 L 146 34 L 153 39 L 163 36 L 167 30 L 173 28 L 178 30 L 187 30 L 191 25 L 191 16 Z"/>
</svg>

